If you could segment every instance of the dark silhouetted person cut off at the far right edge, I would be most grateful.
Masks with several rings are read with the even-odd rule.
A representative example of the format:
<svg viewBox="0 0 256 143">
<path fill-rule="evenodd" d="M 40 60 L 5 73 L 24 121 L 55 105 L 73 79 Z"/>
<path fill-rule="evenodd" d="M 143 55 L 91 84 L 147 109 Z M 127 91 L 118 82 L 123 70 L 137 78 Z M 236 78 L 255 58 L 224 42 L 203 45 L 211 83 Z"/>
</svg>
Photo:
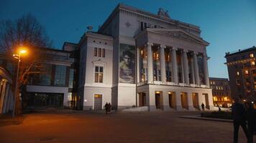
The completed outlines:
<svg viewBox="0 0 256 143">
<path fill-rule="evenodd" d="M 253 109 L 252 102 L 246 102 L 245 107 L 247 109 L 246 119 L 247 119 L 247 133 L 248 133 L 248 143 L 253 142 L 253 134 L 256 133 L 256 110 Z"/>
</svg>

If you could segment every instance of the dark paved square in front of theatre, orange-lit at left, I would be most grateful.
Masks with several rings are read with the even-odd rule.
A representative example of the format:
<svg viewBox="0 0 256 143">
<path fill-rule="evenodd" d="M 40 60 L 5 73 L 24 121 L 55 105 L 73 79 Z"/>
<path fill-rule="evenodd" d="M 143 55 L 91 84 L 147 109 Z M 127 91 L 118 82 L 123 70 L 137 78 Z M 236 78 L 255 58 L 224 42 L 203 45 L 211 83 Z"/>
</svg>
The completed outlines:
<svg viewBox="0 0 256 143">
<path fill-rule="evenodd" d="M 0 127 L 0 142 L 232 142 L 232 123 L 182 119 L 198 112 L 54 112 Z M 256 141 L 256 137 L 254 138 Z M 239 142 L 247 142 L 242 129 Z"/>
</svg>

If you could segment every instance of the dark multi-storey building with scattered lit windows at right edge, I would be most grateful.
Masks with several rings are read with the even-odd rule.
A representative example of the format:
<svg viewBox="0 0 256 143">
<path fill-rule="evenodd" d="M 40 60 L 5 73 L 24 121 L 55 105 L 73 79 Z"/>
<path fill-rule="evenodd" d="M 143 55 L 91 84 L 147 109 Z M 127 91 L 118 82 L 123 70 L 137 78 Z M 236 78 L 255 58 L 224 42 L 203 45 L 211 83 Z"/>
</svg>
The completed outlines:
<svg viewBox="0 0 256 143">
<path fill-rule="evenodd" d="M 256 102 L 256 46 L 227 52 L 227 69 L 232 97 Z"/>
</svg>

